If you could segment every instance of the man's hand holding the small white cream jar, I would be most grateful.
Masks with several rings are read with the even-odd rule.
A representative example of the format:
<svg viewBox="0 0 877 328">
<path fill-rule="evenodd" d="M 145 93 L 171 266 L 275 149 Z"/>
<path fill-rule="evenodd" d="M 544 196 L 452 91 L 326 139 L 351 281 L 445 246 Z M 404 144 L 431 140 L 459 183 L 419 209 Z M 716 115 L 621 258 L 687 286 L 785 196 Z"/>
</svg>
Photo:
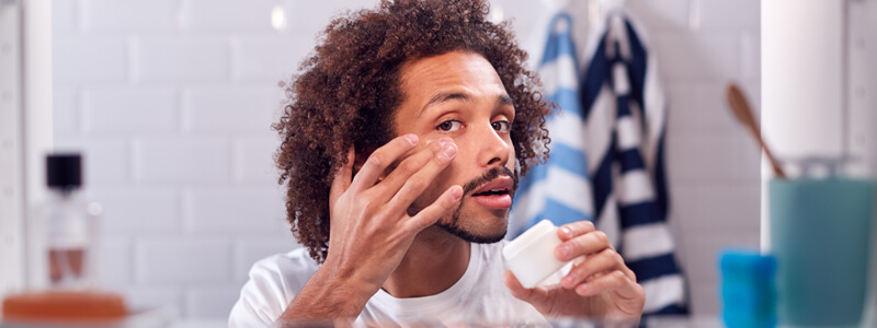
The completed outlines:
<svg viewBox="0 0 877 328">
<path fill-rule="evenodd" d="M 636 276 L 593 223 L 581 221 L 557 230 L 563 243 L 555 257 L 573 261 L 559 285 L 525 289 L 517 278 L 505 272 L 505 285 L 515 297 L 546 316 L 586 316 L 612 320 L 636 320 L 642 314 L 646 292 Z"/>
</svg>

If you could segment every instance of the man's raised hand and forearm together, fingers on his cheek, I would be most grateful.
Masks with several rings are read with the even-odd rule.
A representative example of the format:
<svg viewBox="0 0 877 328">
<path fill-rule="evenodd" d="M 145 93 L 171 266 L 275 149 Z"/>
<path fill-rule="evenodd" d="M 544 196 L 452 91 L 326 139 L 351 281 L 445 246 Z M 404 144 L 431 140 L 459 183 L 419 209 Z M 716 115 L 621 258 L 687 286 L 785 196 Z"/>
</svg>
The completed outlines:
<svg viewBox="0 0 877 328">
<path fill-rule="evenodd" d="M 407 212 L 456 155 L 449 138 L 415 151 L 381 179 L 418 141 L 415 134 L 394 139 L 373 152 L 355 177 L 350 150 L 330 189 L 329 254 L 282 320 L 357 316 L 399 266 L 414 236 L 459 202 L 463 188 L 452 186 L 413 216 Z"/>
</svg>

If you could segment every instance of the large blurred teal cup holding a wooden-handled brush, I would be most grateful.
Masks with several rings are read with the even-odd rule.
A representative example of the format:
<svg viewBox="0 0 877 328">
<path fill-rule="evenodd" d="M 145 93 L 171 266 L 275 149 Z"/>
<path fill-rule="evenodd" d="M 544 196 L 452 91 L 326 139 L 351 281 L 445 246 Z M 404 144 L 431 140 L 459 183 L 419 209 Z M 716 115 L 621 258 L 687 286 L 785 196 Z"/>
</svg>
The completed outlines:
<svg viewBox="0 0 877 328">
<path fill-rule="evenodd" d="M 843 327 L 861 323 L 873 194 L 867 180 L 770 183 L 779 324 Z"/>
</svg>

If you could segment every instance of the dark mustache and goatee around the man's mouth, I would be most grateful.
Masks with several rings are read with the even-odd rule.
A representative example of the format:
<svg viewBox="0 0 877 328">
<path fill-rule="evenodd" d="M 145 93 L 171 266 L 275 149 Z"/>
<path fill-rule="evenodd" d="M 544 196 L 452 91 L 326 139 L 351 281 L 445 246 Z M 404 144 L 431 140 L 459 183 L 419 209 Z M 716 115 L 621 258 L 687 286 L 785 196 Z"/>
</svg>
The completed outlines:
<svg viewBox="0 0 877 328">
<path fill-rule="evenodd" d="M 502 241 L 505 237 L 505 234 L 509 230 L 508 210 L 503 211 L 503 213 L 501 214 L 502 219 L 505 222 L 505 224 L 502 225 L 502 231 L 497 231 L 496 233 L 478 233 L 476 231 L 472 231 L 471 229 L 466 229 L 464 226 L 460 226 L 460 222 L 476 222 L 476 218 L 471 218 L 471 215 L 462 213 L 463 206 L 466 201 L 466 196 L 471 196 L 472 191 L 475 191 L 478 187 L 500 176 L 508 176 L 512 178 L 514 185 L 512 186 L 512 189 L 509 190 L 509 195 L 514 197 L 514 191 L 517 190 L 517 175 L 512 173 L 512 171 L 505 166 L 493 167 L 490 171 L 486 172 L 480 177 L 477 177 L 463 186 L 463 197 L 460 199 L 459 204 L 457 204 L 457 208 L 454 210 L 454 213 L 451 215 L 449 222 L 443 222 L 442 220 L 438 220 L 438 222 L 436 222 L 434 225 L 469 243 L 493 244 Z"/>
</svg>

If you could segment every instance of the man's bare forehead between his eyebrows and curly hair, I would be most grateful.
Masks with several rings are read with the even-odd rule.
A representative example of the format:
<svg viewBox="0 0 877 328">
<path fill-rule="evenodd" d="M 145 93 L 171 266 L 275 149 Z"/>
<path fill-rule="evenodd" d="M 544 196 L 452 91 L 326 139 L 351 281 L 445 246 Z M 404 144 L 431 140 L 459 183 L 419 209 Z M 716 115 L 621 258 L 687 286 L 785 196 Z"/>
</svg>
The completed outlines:
<svg viewBox="0 0 877 328">
<path fill-rule="evenodd" d="M 405 103 L 423 103 L 437 93 L 453 91 L 478 97 L 504 95 L 493 66 L 481 55 L 451 51 L 412 60 L 400 70 Z"/>
</svg>

